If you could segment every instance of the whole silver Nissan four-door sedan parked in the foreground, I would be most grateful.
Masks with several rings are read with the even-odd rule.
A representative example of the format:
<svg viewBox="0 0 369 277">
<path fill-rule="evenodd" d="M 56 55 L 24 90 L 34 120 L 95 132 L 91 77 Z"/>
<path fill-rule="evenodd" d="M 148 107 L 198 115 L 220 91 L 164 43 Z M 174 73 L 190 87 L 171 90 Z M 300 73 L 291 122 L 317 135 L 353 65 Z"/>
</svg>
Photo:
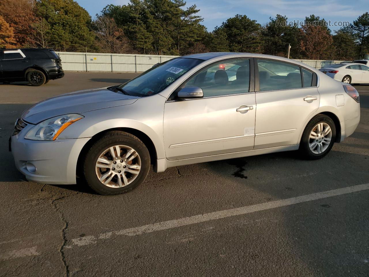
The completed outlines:
<svg viewBox="0 0 369 277">
<path fill-rule="evenodd" d="M 290 59 L 206 53 L 171 59 L 118 86 L 26 110 L 11 150 L 28 180 L 131 191 L 168 167 L 299 150 L 328 154 L 360 120 L 348 83 Z"/>
</svg>

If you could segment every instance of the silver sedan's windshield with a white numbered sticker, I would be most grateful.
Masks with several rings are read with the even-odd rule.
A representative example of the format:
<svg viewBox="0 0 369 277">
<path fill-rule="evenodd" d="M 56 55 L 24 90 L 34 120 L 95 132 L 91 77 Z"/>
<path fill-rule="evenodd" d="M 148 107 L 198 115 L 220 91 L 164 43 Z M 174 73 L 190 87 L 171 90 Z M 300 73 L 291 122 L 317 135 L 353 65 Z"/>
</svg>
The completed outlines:
<svg viewBox="0 0 369 277">
<path fill-rule="evenodd" d="M 161 92 L 184 73 L 203 62 L 200 59 L 175 58 L 145 71 L 131 81 L 118 86 L 122 93 L 150 96 Z"/>
</svg>

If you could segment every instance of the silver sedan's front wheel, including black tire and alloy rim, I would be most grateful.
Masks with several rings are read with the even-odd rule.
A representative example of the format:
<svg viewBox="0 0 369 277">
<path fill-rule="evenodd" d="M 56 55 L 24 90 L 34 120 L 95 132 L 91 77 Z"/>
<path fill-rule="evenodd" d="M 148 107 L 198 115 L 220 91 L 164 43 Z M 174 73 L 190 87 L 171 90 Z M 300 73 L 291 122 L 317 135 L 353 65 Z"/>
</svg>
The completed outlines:
<svg viewBox="0 0 369 277">
<path fill-rule="evenodd" d="M 141 140 L 122 131 L 109 131 L 87 151 L 83 174 L 97 193 L 116 195 L 144 182 L 149 168 L 150 154 Z"/>
</svg>

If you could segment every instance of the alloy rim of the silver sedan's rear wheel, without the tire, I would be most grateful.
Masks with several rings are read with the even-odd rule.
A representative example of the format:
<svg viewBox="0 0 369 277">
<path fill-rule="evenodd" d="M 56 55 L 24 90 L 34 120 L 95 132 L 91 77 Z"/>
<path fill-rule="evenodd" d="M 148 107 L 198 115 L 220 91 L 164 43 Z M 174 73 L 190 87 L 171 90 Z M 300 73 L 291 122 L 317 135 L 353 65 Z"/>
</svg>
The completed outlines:
<svg viewBox="0 0 369 277">
<path fill-rule="evenodd" d="M 314 154 L 321 154 L 329 147 L 332 140 L 332 129 L 320 122 L 314 126 L 309 136 L 309 147 Z"/>
</svg>

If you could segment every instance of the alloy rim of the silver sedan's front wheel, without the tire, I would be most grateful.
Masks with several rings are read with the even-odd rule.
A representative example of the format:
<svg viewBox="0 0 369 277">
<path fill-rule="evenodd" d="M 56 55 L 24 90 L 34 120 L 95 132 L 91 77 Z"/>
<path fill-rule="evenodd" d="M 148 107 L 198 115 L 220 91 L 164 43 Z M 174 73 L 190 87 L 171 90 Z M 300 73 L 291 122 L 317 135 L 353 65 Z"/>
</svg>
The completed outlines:
<svg viewBox="0 0 369 277">
<path fill-rule="evenodd" d="M 131 184 L 141 170 L 136 150 L 116 145 L 104 150 L 96 161 L 96 176 L 107 187 L 121 188 Z"/>
</svg>

